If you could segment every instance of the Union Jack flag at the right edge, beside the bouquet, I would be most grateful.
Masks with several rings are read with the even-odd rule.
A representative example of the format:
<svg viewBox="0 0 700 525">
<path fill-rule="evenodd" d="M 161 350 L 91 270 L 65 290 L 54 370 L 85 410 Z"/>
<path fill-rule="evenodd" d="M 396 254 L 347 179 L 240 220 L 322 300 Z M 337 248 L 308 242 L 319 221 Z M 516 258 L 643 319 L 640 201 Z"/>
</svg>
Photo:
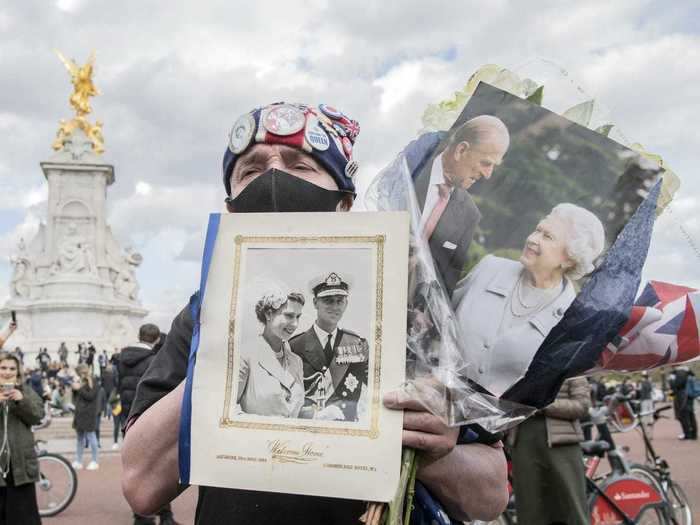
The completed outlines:
<svg viewBox="0 0 700 525">
<path fill-rule="evenodd" d="M 635 301 L 619 337 L 603 350 L 599 366 L 634 371 L 697 358 L 699 313 L 699 290 L 649 282 Z"/>
</svg>

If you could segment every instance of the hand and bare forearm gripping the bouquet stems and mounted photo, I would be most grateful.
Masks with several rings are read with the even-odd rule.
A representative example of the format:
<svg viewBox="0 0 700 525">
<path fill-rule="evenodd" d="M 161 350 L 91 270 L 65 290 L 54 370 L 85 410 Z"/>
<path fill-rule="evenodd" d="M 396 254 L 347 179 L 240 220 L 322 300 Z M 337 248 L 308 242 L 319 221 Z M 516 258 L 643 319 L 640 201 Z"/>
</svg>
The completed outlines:
<svg viewBox="0 0 700 525">
<path fill-rule="evenodd" d="M 489 521 L 503 512 L 508 488 L 502 449 L 456 445 L 459 429 L 445 425 L 405 392 L 390 392 L 384 404 L 404 410 L 403 445 L 421 451 L 417 477 L 451 516 Z"/>
</svg>

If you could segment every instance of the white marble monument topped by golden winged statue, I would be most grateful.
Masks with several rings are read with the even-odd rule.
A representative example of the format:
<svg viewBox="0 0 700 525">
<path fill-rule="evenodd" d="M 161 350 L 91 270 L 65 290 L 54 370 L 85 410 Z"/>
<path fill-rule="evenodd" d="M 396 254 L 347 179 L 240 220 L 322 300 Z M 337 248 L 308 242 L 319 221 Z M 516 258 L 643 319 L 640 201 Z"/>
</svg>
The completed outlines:
<svg viewBox="0 0 700 525">
<path fill-rule="evenodd" d="M 91 74 L 91 62 L 75 70 L 88 66 Z M 41 163 L 49 184 L 46 223 L 30 242 L 20 240 L 10 257 L 11 297 L 0 309 L 3 326 L 13 310 L 17 316 L 17 331 L 5 349 L 21 347 L 30 366 L 41 347 L 55 359 L 62 341 L 71 352 L 78 343 L 92 341 L 98 351 L 111 353 L 136 340 L 147 314 L 135 274 L 141 255 L 122 250 L 105 219 L 114 168 L 101 158 L 101 124 L 87 121 L 85 100 L 74 104 L 80 94 L 76 85 L 71 104 L 77 116 L 61 123 L 57 152 Z"/>
</svg>

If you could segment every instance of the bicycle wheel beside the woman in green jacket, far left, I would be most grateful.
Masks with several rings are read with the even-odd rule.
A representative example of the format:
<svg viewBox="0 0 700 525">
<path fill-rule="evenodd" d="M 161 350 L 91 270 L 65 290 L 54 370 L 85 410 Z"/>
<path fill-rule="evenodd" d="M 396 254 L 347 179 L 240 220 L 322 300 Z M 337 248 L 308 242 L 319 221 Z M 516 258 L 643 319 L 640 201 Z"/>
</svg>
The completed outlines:
<svg viewBox="0 0 700 525">
<path fill-rule="evenodd" d="M 55 516 L 70 505 L 78 490 L 78 476 L 66 458 L 46 453 L 39 456 L 36 499 L 40 516 Z"/>
</svg>

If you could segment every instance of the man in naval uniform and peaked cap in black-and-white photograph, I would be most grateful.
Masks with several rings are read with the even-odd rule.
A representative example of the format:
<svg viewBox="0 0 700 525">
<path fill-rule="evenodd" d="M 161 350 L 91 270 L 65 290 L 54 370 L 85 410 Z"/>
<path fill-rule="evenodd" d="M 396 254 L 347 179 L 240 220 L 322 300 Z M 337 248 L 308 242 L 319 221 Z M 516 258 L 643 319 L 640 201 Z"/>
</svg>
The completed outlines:
<svg viewBox="0 0 700 525">
<path fill-rule="evenodd" d="M 348 307 L 349 280 L 331 272 L 310 287 L 316 321 L 289 340 L 303 363 L 305 399 L 299 417 L 359 421 L 367 410 L 369 344 L 338 326 Z"/>
</svg>

